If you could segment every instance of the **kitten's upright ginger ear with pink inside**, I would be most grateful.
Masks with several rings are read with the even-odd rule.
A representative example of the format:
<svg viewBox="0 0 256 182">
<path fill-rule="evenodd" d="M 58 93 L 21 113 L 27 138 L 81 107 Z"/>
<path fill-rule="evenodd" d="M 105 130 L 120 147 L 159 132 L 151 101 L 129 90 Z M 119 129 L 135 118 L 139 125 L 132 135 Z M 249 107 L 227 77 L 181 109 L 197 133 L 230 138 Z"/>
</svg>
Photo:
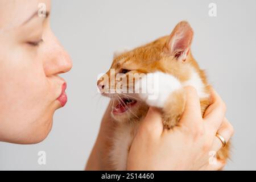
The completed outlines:
<svg viewBox="0 0 256 182">
<path fill-rule="evenodd" d="M 193 30 L 188 22 L 182 21 L 176 25 L 169 36 L 165 51 L 179 61 L 187 59 L 193 39 Z"/>
</svg>

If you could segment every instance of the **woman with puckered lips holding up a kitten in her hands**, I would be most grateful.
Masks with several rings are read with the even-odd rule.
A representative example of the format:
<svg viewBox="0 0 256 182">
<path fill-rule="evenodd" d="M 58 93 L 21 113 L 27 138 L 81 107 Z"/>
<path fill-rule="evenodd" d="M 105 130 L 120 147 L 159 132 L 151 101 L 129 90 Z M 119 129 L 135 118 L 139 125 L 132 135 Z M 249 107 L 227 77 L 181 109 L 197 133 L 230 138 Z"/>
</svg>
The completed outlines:
<svg viewBox="0 0 256 182">
<path fill-rule="evenodd" d="M 38 15 L 45 3 L 46 16 Z M 50 1 L 0 0 L 0 141 L 32 144 L 44 140 L 55 110 L 67 102 L 66 83 L 59 77 L 72 68 L 68 54 L 49 27 Z M 225 118 L 225 104 L 213 90 L 213 103 L 200 114 L 199 98 L 186 88 L 188 101 L 181 126 L 163 130 L 158 110 L 151 108 L 129 152 L 127 169 L 210 169 L 209 152 L 218 151 L 233 134 Z M 109 109 L 86 169 L 108 169 L 105 156 L 113 123 Z M 153 132 L 152 132 L 153 131 Z M 184 144 L 185 143 L 185 144 Z M 154 155 L 152 155 L 154 154 Z"/>
</svg>

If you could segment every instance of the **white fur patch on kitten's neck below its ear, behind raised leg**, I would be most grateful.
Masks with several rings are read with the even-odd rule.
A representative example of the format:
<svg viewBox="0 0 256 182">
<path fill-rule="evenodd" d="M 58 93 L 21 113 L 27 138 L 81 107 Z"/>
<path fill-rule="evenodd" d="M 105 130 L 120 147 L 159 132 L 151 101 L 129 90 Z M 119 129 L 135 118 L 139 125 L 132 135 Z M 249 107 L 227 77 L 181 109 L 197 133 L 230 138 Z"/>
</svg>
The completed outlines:
<svg viewBox="0 0 256 182">
<path fill-rule="evenodd" d="M 208 98 L 209 94 L 205 93 L 205 85 L 201 80 L 199 73 L 192 69 L 189 80 L 182 83 L 183 86 L 193 86 L 196 89 L 199 98 Z"/>
</svg>

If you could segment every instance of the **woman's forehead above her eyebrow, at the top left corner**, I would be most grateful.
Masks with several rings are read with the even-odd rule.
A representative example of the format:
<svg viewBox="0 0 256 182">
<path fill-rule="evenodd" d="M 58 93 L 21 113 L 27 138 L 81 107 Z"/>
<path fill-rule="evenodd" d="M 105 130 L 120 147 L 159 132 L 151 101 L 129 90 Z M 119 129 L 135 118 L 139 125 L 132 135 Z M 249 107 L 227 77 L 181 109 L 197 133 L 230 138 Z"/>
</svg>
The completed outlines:
<svg viewBox="0 0 256 182">
<path fill-rule="evenodd" d="M 20 26 L 31 15 L 40 11 L 41 3 L 46 11 L 51 9 L 50 0 L 1 0 L 0 1 L 0 30 Z"/>
</svg>

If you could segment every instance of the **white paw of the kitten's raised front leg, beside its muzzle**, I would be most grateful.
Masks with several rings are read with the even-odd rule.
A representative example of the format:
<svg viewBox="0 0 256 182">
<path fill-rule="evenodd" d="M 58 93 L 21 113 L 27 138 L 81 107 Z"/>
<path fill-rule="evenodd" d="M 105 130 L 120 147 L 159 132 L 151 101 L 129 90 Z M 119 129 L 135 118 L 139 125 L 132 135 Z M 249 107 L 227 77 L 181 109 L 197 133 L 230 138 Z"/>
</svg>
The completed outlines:
<svg viewBox="0 0 256 182">
<path fill-rule="evenodd" d="M 149 106 L 160 108 L 163 108 L 170 94 L 180 88 L 181 83 L 176 77 L 163 72 L 148 73 L 135 85 L 141 100 Z"/>
</svg>

